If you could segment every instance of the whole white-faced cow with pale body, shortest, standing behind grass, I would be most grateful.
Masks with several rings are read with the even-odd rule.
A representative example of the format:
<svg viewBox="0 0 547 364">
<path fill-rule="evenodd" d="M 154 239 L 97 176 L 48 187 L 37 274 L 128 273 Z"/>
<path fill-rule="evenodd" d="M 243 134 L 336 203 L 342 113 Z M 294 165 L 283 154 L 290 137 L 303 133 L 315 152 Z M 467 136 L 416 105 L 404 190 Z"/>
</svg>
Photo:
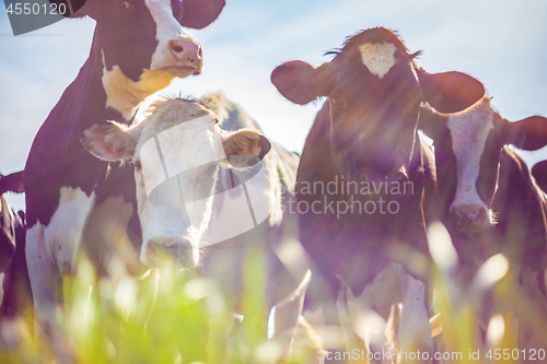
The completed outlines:
<svg viewBox="0 0 547 364">
<path fill-rule="evenodd" d="M 202 247 L 200 272 L 241 309 L 243 277 L 254 273 L 244 270 L 245 254 L 258 249 L 267 274 L 263 324 L 270 316 L 270 333 L 292 338 L 310 280 L 298 250 L 289 248 L 296 265 L 282 258 L 283 246 L 299 238 L 296 215 L 287 209 L 299 158 L 260 133 L 240 106 L 212 93 L 167 97 L 144 121 L 97 125 L 82 141 L 102 160 L 135 164 L 140 223 L 156 234 L 153 243 L 144 235 L 142 261 L 153 266 L 161 253 L 184 259 L 173 240 L 193 240 Z"/>
</svg>

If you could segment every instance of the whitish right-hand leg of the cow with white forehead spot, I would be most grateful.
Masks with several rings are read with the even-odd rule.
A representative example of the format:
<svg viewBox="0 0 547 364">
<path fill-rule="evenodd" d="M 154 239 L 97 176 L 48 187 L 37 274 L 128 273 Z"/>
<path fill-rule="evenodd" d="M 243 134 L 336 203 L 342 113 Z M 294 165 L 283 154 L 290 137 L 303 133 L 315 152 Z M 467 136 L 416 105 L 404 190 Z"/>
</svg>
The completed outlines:
<svg viewBox="0 0 547 364">
<path fill-rule="evenodd" d="M 426 285 L 408 273 L 401 277 L 403 312 L 398 329 L 403 364 L 431 363 L 433 341 L 426 305 Z M 418 353 L 429 353 L 430 360 L 418 360 Z M 405 353 L 407 356 L 405 356 Z M 415 354 L 415 355 L 411 355 Z M 410 356 L 416 357 L 415 360 Z M 420 356 L 422 357 L 422 356 Z"/>
</svg>

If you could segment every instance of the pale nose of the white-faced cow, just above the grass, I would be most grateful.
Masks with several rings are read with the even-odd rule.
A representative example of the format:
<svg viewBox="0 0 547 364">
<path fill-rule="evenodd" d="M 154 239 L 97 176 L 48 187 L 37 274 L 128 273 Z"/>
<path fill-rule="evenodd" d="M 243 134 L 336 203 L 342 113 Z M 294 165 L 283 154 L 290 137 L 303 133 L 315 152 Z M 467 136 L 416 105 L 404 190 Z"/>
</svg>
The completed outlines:
<svg viewBox="0 0 547 364">
<path fill-rule="evenodd" d="M 185 268 L 199 263 L 199 249 L 187 238 L 154 238 L 148 244 L 148 250 L 155 260 L 162 256 L 173 258 Z"/>
</svg>

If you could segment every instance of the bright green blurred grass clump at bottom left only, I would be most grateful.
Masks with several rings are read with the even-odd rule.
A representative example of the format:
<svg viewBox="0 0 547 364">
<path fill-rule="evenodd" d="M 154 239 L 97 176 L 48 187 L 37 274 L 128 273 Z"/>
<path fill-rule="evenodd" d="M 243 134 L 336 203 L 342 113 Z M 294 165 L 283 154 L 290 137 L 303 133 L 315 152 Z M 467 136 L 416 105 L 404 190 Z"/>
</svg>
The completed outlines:
<svg viewBox="0 0 547 364">
<path fill-rule="evenodd" d="M 86 259 L 75 277 L 63 278 L 63 307 L 57 320 L 78 363 L 277 363 L 282 348 L 267 340 L 264 262 L 247 254 L 242 324 L 234 319 L 234 297 L 221 282 L 181 270 L 173 261 L 142 279 L 98 279 Z M 155 281 L 159 280 L 158 294 Z M 44 340 L 33 334 L 32 309 L 19 322 L 22 341 L 0 352 L 0 363 L 50 363 Z M 305 353 L 304 353 L 305 352 Z M 291 363 L 309 353 L 300 348 Z"/>
</svg>

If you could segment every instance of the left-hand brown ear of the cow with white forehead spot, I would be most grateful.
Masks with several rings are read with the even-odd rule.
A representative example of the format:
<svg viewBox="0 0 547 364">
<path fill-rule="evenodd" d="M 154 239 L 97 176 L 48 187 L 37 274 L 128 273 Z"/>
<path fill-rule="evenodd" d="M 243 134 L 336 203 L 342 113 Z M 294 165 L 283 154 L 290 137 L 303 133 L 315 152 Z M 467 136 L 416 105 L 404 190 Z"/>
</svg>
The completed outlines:
<svg viewBox="0 0 547 364">
<path fill-rule="evenodd" d="M 305 105 L 328 96 L 336 80 L 333 68 L 331 62 L 318 68 L 300 60 L 284 62 L 271 72 L 271 82 L 286 98 Z"/>
</svg>

